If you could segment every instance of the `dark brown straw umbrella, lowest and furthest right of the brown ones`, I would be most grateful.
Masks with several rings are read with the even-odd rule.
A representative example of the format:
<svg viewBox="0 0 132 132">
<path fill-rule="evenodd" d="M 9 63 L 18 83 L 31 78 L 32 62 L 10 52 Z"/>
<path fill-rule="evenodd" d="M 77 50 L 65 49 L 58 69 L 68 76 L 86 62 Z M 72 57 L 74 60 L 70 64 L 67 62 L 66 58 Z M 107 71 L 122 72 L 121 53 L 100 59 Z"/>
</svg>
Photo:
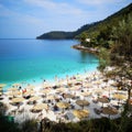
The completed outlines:
<svg viewBox="0 0 132 132">
<path fill-rule="evenodd" d="M 109 118 L 110 118 L 110 116 L 118 114 L 118 110 L 116 108 L 105 107 L 102 108 L 102 113 L 109 114 Z"/>
</svg>

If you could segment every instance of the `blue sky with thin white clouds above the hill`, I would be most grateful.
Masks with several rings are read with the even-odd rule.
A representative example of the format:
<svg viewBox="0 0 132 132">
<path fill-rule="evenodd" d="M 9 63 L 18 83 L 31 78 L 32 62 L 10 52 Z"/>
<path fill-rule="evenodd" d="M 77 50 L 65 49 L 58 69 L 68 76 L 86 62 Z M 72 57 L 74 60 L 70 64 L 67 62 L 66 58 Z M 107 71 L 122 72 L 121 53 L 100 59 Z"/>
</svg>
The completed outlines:
<svg viewBox="0 0 132 132">
<path fill-rule="evenodd" d="M 76 31 L 132 0 L 0 0 L 0 38 L 35 38 L 51 31 Z"/>
</svg>

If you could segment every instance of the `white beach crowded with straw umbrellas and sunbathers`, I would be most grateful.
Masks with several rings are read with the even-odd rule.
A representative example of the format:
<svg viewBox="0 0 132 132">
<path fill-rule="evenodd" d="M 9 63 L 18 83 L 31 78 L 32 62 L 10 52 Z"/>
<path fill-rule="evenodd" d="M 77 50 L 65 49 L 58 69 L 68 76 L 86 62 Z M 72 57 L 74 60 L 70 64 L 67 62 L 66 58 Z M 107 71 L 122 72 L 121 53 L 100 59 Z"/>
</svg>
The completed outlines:
<svg viewBox="0 0 132 132">
<path fill-rule="evenodd" d="M 56 78 L 42 84 L 13 84 L 1 94 L 6 116 L 14 122 L 47 118 L 55 122 L 77 122 L 97 118 L 118 118 L 128 99 L 127 90 L 119 90 L 117 80 L 106 79 L 98 70 Z"/>
</svg>

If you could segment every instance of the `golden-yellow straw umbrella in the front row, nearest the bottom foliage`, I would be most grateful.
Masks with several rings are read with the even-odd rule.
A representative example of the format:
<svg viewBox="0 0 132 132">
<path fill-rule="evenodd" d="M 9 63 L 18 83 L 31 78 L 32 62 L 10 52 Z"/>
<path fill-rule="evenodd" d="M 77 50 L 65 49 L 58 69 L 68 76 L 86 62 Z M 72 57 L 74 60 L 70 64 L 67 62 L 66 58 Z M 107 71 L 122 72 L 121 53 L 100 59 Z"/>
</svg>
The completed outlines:
<svg viewBox="0 0 132 132">
<path fill-rule="evenodd" d="M 88 117 L 89 111 L 88 110 L 74 110 L 73 113 L 75 117 L 77 117 L 79 119 L 84 119 L 84 118 Z"/>
</svg>

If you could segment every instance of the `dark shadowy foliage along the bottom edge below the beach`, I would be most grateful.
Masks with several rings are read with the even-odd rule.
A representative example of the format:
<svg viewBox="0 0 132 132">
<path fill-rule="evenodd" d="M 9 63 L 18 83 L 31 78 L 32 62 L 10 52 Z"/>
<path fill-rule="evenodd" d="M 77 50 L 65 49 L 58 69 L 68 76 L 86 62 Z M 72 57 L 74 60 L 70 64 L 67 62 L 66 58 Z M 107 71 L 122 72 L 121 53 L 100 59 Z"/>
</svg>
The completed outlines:
<svg viewBox="0 0 132 132">
<path fill-rule="evenodd" d="M 18 127 L 14 122 L 9 122 L 0 116 L 1 132 L 130 132 L 132 129 L 132 119 L 122 117 L 110 120 L 108 118 L 82 120 L 74 123 L 55 123 L 47 119 L 43 120 L 38 128 L 36 120 L 26 120 Z"/>
</svg>

